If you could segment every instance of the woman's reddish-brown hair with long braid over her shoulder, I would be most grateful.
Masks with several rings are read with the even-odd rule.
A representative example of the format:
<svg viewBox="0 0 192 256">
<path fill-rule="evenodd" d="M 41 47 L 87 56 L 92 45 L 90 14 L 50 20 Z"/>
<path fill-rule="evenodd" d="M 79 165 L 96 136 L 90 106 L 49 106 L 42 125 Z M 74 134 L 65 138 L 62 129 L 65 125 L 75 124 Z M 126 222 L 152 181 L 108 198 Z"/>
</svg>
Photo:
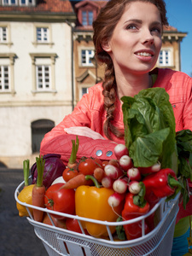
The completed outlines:
<svg viewBox="0 0 192 256">
<path fill-rule="evenodd" d="M 166 4 L 164 0 L 110 0 L 101 9 L 100 14 L 93 22 L 93 42 L 96 48 L 96 59 L 106 64 L 105 77 L 102 83 L 104 96 L 104 108 L 107 112 L 107 119 L 104 123 L 104 133 L 111 139 L 111 132 L 116 137 L 124 137 L 124 133 L 119 131 L 118 127 L 115 127 L 113 122 L 113 111 L 115 109 L 116 102 L 116 81 L 113 69 L 113 61 L 108 53 L 102 49 L 102 44 L 108 42 L 113 35 L 114 27 L 117 25 L 121 16 L 125 11 L 127 3 L 131 2 L 146 2 L 153 3 L 160 11 L 160 18 L 162 26 L 168 25 L 166 19 Z"/>
</svg>

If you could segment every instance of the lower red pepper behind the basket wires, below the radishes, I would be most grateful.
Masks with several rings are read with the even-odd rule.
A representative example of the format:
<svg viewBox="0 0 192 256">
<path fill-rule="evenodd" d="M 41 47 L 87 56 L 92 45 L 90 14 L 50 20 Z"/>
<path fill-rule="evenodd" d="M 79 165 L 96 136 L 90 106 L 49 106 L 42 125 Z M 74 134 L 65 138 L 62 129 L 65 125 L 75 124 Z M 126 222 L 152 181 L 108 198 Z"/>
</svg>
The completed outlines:
<svg viewBox="0 0 192 256">
<path fill-rule="evenodd" d="M 134 196 L 131 193 L 128 193 L 125 198 L 125 206 L 122 211 L 122 218 L 123 220 L 131 220 L 133 218 L 140 217 L 144 214 L 146 214 L 149 211 L 149 204 L 147 201 L 145 201 L 142 204 L 142 207 L 139 205 L 136 205 L 134 203 Z M 125 224 L 125 235 L 127 240 L 136 239 L 138 237 L 142 236 L 142 221 L 138 221 L 133 224 Z M 144 230 L 145 234 L 148 234 L 150 231 L 148 224 L 144 224 Z"/>
</svg>

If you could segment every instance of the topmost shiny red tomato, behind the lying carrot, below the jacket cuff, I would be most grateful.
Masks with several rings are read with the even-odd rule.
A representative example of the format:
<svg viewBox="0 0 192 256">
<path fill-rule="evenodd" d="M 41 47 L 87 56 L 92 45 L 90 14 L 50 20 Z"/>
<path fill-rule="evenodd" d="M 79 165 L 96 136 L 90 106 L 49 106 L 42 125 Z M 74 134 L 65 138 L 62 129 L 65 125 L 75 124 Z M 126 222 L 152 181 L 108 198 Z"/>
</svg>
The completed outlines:
<svg viewBox="0 0 192 256">
<path fill-rule="evenodd" d="M 92 158 L 85 158 L 79 162 L 79 172 L 92 175 L 98 165 Z"/>
</svg>

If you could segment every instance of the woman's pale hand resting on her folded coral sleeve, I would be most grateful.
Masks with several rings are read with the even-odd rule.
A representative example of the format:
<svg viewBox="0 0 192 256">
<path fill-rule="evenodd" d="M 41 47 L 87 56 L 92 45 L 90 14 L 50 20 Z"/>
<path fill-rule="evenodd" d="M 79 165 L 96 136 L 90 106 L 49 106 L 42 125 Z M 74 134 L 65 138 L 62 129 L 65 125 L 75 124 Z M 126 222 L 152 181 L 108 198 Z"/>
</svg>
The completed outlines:
<svg viewBox="0 0 192 256">
<path fill-rule="evenodd" d="M 97 140 L 97 139 L 105 140 L 105 138 L 102 137 L 102 135 L 100 133 L 93 131 L 90 128 L 84 127 L 84 126 L 75 126 L 75 127 L 70 127 L 70 128 L 64 128 L 64 131 L 66 131 L 68 134 L 90 137 L 94 140 Z"/>
</svg>

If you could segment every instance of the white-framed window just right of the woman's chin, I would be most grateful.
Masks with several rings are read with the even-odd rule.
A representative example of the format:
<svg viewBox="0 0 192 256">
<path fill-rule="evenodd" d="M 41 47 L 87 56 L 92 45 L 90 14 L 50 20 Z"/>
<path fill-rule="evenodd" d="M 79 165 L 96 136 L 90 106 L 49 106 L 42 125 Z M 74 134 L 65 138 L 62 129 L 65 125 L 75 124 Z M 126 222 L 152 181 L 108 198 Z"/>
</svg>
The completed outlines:
<svg viewBox="0 0 192 256">
<path fill-rule="evenodd" d="M 162 55 L 161 55 L 162 53 Z M 173 63 L 173 53 L 172 48 L 162 48 L 160 49 L 160 55 L 158 58 L 158 64 L 160 67 L 172 67 Z"/>
</svg>

